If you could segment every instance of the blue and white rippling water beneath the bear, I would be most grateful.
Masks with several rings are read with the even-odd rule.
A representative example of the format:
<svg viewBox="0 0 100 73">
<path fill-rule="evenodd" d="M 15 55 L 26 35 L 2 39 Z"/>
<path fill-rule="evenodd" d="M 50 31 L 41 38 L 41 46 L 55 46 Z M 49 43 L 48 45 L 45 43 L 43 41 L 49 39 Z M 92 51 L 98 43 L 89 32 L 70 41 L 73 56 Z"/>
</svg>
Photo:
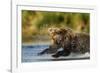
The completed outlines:
<svg viewBox="0 0 100 73">
<path fill-rule="evenodd" d="M 61 60 L 85 60 L 89 59 L 89 53 L 75 54 L 71 53 L 66 57 L 53 58 L 51 54 L 37 55 L 49 45 L 22 45 L 22 62 L 41 62 L 41 61 L 61 61 Z"/>
</svg>

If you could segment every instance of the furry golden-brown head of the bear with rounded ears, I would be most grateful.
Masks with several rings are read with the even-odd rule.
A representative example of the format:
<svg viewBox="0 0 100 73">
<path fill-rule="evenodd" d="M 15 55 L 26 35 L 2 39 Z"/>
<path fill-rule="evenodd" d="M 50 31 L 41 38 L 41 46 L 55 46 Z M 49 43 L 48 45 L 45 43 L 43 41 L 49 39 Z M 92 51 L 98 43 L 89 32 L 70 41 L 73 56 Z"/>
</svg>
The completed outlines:
<svg viewBox="0 0 100 73">
<path fill-rule="evenodd" d="M 69 42 L 73 38 L 73 31 L 70 28 L 49 28 L 48 32 L 54 44 Z"/>
</svg>

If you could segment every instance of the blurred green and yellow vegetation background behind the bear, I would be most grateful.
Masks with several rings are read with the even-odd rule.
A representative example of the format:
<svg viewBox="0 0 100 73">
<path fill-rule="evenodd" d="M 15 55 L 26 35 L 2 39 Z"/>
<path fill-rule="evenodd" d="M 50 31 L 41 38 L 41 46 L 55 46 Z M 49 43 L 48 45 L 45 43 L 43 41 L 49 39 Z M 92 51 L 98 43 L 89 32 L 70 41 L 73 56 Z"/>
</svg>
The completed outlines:
<svg viewBox="0 0 100 73">
<path fill-rule="evenodd" d="M 70 27 L 90 32 L 90 14 L 22 10 L 22 43 L 49 41 L 48 28 Z"/>
</svg>

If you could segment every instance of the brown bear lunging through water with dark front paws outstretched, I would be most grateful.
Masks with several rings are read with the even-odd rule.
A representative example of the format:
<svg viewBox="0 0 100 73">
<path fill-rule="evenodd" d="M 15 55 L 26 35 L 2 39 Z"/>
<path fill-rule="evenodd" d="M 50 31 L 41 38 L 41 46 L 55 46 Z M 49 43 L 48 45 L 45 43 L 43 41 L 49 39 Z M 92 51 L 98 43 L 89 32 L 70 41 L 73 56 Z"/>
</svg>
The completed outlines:
<svg viewBox="0 0 100 73">
<path fill-rule="evenodd" d="M 70 28 L 49 28 L 48 32 L 52 39 L 49 48 L 39 53 L 53 53 L 53 57 L 68 56 L 71 52 L 86 53 L 90 52 L 90 36 L 87 33 L 76 33 Z M 62 51 L 59 51 L 63 48 Z"/>
</svg>

